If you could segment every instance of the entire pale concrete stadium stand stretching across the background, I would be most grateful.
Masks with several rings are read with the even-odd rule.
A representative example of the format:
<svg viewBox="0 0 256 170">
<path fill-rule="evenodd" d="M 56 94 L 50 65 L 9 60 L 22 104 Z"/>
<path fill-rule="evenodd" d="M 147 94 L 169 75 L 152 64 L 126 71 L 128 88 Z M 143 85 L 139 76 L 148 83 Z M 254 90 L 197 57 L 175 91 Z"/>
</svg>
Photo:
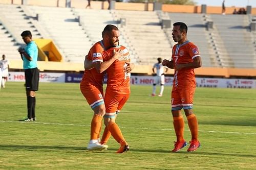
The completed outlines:
<svg viewBox="0 0 256 170">
<path fill-rule="evenodd" d="M 104 26 L 110 23 L 120 29 L 120 44 L 129 49 L 132 62 L 151 67 L 158 57 L 170 59 L 175 44 L 172 27 L 161 28 L 162 19 L 170 19 L 172 23 L 187 23 L 188 39 L 198 45 L 203 67 L 256 67 L 256 33 L 249 28 L 250 21 L 254 19 L 250 15 L 1 4 L 0 14 L 0 49 L 9 59 L 19 60 L 17 44 L 23 43 L 19 34 L 23 30 L 31 30 L 33 38 L 52 39 L 66 62 L 82 63 L 91 45 L 101 40 Z M 214 23 L 212 29 L 207 28 L 208 21 Z M 150 70 L 138 69 L 141 72 Z"/>
</svg>

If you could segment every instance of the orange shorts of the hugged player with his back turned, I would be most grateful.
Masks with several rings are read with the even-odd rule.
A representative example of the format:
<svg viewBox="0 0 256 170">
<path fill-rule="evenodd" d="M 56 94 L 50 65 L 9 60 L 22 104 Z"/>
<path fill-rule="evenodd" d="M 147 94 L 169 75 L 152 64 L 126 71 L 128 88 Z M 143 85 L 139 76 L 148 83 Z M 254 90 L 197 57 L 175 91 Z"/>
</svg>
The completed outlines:
<svg viewBox="0 0 256 170">
<path fill-rule="evenodd" d="M 108 93 L 106 91 L 104 96 L 104 103 L 106 107 L 106 113 L 104 117 L 114 117 L 116 114 L 120 112 L 120 110 L 123 108 L 126 101 L 129 99 L 130 94 L 128 95 L 113 95 L 111 93 Z"/>
</svg>

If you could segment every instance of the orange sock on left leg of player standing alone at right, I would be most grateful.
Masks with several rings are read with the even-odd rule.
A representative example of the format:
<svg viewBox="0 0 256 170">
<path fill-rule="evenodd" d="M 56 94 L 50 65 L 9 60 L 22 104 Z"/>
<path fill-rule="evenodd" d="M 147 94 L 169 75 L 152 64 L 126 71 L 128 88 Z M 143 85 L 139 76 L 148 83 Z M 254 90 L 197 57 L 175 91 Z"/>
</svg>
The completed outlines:
<svg viewBox="0 0 256 170">
<path fill-rule="evenodd" d="M 177 141 L 184 140 L 184 118 L 183 116 L 173 117 L 174 119 L 174 129 L 177 137 Z"/>
</svg>

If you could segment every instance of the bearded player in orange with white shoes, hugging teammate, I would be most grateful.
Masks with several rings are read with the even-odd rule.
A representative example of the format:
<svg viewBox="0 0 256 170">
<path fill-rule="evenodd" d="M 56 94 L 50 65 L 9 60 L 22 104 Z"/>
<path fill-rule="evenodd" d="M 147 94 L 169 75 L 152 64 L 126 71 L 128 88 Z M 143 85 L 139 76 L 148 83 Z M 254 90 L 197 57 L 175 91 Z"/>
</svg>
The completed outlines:
<svg viewBox="0 0 256 170">
<path fill-rule="evenodd" d="M 98 141 L 102 124 L 102 117 L 105 114 L 105 105 L 103 101 L 103 71 L 108 68 L 116 59 L 121 57 L 119 51 L 114 51 L 108 61 L 103 62 L 102 52 L 110 47 L 118 45 L 119 30 L 116 26 L 107 25 L 102 32 L 102 40 L 95 43 L 84 61 L 83 78 L 80 82 L 80 90 L 87 102 L 94 111 L 91 122 L 91 139 L 88 144 L 88 150 L 105 150 L 107 145 L 100 144 Z M 86 68 L 86 60 L 91 60 L 93 68 Z"/>
</svg>

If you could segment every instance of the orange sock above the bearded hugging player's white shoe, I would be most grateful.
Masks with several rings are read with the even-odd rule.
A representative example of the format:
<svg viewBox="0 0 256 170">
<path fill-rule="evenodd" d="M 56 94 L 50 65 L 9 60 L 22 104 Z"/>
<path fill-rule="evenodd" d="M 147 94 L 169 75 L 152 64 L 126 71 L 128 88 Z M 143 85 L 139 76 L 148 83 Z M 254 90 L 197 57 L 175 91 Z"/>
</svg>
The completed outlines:
<svg viewBox="0 0 256 170">
<path fill-rule="evenodd" d="M 98 135 L 100 132 L 102 117 L 98 114 L 94 114 L 92 122 L 91 122 L 91 140 L 98 139 Z"/>
</svg>

